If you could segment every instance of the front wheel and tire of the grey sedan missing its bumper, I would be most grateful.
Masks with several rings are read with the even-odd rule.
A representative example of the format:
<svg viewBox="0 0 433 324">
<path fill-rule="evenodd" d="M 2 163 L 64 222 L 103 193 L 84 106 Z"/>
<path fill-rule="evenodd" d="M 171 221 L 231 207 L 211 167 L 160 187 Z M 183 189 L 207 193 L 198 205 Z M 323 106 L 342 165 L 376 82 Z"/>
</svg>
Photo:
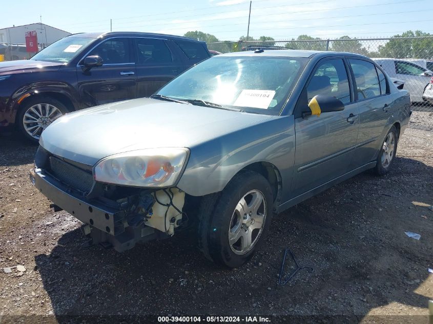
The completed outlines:
<svg viewBox="0 0 433 324">
<path fill-rule="evenodd" d="M 219 196 L 203 199 L 198 226 L 200 249 L 217 264 L 229 268 L 243 265 L 259 249 L 272 220 L 269 182 L 256 172 L 245 170 Z M 257 204 L 255 208 L 253 202 Z"/>
</svg>

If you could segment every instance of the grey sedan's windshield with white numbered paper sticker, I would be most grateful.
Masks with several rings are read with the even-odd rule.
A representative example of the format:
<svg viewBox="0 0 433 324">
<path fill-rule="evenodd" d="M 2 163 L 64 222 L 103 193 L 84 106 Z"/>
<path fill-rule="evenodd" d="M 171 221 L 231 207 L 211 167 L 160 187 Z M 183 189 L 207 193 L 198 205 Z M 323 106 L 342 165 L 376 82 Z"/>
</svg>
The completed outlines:
<svg viewBox="0 0 433 324">
<path fill-rule="evenodd" d="M 157 94 L 279 115 L 307 61 L 299 57 L 215 56 L 181 74 Z"/>
</svg>

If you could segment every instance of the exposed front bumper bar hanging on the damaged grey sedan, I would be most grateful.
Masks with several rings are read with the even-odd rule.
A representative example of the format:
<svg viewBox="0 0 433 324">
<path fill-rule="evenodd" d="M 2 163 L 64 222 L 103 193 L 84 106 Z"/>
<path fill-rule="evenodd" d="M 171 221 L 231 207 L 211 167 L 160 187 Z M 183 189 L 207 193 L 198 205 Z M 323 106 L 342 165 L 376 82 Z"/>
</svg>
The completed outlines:
<svg viewBox="0 0 433 324">
<path fill-rule="evenodd" d="M 147 226 L 146 222 L 131 226 L 128 223 L 128 209 L 79 197 L 42 169 L 31 169 L 30 180 L 50 201 L 85 224 L 82 230 L 92 244 L 112 246 L 122 252 L 134 247 L 137 242 L 168 237 L 166 233 Z"/>
</svg>

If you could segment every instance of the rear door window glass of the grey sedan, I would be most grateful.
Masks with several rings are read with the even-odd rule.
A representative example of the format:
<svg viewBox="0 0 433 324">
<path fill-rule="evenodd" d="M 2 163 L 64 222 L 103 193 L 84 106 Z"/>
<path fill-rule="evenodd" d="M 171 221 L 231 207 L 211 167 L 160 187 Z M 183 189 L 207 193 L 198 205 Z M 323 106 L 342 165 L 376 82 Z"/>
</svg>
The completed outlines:
<svg viewBox="0 0 433 324">
<path fill-rule="evenodd" d="M 374 64 L 359 59 L 349 59 L 349 62 L 355 75 L 358 100 L 380 96 L 379 78 Z"/>
</svg>

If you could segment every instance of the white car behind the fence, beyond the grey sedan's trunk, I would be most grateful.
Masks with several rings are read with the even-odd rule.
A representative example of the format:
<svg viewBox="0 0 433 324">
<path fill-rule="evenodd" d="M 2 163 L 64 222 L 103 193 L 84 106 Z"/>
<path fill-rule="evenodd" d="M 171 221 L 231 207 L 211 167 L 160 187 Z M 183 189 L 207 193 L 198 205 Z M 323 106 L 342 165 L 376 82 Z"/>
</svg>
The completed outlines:
<svg viewBox="0 0 433 324">
<path fill-rule="evenodd" d="M 433 72 L 405 59 L 372 58 L 393 79 L 404 82 L 412 102 L 424 102 L 424 91 L 430 84 Z"/>
</svg>

